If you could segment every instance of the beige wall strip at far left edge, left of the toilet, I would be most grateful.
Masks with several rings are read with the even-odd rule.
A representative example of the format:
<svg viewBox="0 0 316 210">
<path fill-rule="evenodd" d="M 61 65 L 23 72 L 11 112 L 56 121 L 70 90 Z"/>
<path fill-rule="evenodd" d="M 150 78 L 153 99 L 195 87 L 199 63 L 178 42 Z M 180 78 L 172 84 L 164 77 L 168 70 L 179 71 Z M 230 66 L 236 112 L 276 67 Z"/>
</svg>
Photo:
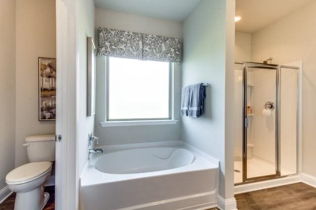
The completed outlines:
<svg viewBox="0 0 316 210">
<path fill-rule="evenodd" d="M 0 190 L 15 159 L 15 1 L 0 1 Z M 0 198 L 1 200 L 1 198 Z"/>
</svg>

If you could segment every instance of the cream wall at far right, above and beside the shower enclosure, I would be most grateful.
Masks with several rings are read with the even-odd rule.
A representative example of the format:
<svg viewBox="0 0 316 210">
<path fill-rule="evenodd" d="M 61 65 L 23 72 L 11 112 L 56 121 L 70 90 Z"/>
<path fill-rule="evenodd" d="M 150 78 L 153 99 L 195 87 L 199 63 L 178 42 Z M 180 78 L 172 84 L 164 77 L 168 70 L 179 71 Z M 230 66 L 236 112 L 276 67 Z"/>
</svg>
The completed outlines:
<svg viewBox="0 0 316 210">
<path fill-rule="evenodd" d="M 252 35 L 252 60 L 273 57 L 273 63 L 303 61 L 303 172 L 316 176 L 316 1 Z"/>
</svg>

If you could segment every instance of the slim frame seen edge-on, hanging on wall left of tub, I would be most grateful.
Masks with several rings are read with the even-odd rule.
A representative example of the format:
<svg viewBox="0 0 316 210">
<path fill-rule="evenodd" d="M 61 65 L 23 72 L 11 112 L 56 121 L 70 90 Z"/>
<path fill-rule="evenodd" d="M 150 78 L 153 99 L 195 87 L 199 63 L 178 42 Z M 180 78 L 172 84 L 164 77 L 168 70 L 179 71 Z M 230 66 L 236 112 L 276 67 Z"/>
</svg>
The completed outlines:
<svg viewBox="0 0 316 210">
<path fill-rule="evenodd" d="M 87 37 L 87 116 L 95 113 L 95 46 Z"/>
</svg>

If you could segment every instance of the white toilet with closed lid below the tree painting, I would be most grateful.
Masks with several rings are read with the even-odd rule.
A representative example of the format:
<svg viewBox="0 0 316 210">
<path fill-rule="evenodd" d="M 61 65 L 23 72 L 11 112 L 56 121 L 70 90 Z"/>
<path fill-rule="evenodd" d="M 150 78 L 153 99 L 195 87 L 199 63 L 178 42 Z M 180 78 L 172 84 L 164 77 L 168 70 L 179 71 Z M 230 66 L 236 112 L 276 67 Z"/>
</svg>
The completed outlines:
<svg viewBox="0 0 316 210">
<path fill-rule="evenodd" d="M 42 210 L 49 198 L 44 184 L 55 161 L 55 135 L 29 136 L 23 146 L 30 163 L 9 172 L 5 182 L 16 192 L 14 210 Z"/>
</svg>

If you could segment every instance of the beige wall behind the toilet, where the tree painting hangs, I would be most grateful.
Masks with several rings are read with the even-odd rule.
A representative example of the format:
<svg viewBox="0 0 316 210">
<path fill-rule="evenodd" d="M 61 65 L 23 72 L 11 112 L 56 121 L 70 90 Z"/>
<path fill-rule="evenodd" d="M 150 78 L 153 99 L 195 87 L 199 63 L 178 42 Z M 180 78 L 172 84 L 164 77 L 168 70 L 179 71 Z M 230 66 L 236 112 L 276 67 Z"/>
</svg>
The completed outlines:
<svg viewBox="0 0 316 210">
<path fill-rule="evenodd" d="M 28 162 L 25 137 L 55 134 L 55 121 L 38 120 L 38 57 L 56 58 L 55 0 L 16 0 L 16 167 Z"/>
</svg>

